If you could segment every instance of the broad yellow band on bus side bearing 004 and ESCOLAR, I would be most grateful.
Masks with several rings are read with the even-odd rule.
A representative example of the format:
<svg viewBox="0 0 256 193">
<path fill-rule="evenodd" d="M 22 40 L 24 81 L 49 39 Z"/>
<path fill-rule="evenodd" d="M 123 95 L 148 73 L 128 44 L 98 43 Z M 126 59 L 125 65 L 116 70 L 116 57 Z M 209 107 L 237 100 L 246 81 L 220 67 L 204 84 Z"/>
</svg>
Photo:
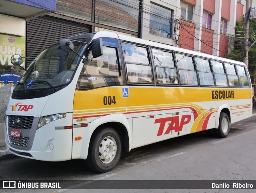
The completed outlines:
<svg viewBox="0 0 256 193">
<path fill-rule="evenodd" d="M 218 95 L 218 91 L 221 91 L 220 95 Z M 104 105 L 104 96 L 115 97 L 116 104 Z M 232 88 L 134 87 L 133 89 L 129 89 L 129 97 L 122 97 L 122 87 L 106 87 L 86 91 L 76 90 L 74 112 L 109 107 L 141 107 L 170 103 L 196 103 L 224 100 L 219 97 L 225 97 L 225 100 L 248 99 L 251 98 L 251 93 L 248 89 Z"/>
</svg>

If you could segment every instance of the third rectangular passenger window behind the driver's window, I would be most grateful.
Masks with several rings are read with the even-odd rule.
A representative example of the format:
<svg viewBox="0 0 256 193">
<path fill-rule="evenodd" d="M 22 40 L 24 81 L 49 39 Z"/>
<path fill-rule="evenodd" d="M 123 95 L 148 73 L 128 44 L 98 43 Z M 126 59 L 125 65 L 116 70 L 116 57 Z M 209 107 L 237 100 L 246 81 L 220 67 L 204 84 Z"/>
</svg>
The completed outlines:
<svg viewBox="0 0 256 193">
<path fill-rule="evenodd" d="M 198 85 L 196 69 L 191 56 L 175 54 L 180 74 L 180 84 Z"/>
</svg>

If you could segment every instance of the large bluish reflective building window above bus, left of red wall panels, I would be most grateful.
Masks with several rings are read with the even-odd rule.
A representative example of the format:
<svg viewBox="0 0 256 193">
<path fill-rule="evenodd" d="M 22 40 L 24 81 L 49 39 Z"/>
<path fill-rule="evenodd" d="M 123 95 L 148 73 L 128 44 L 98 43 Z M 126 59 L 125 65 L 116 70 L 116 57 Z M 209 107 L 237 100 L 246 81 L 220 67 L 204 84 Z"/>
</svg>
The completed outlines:
<svg viewBox="0 0 256 193">
<path fill-rule="evenodd" d="M 173 10 L 150 3 L 150 34 L 172 38 Z"/>
</svg>

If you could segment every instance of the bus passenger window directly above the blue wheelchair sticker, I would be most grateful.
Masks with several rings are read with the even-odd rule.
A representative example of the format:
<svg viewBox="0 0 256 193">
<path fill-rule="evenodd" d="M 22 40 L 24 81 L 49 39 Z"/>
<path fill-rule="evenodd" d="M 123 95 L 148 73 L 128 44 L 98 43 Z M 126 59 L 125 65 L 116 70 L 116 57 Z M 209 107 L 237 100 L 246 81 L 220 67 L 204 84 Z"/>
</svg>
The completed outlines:
<svg viewBox="0 0 256 193">
<path fill-rule="evenodd" d="M 123 43 L 129 83 L 153 83 L 148 48 Z"/>
</svg>

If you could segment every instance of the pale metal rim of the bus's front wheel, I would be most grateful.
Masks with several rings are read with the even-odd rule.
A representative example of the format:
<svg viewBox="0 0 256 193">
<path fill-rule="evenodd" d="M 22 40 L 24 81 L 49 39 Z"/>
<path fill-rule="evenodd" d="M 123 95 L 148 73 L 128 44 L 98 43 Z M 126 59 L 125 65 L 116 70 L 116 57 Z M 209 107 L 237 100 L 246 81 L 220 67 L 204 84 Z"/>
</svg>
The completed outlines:
<svg viewBox="0 0 256 193">
<path fill-rule="evenodd" d="M 99 147 L 99 157 L 102 163 L 110 163 L 116 156 L 116 140 L 113 137 L 105 137 Z"/>
</svg>

